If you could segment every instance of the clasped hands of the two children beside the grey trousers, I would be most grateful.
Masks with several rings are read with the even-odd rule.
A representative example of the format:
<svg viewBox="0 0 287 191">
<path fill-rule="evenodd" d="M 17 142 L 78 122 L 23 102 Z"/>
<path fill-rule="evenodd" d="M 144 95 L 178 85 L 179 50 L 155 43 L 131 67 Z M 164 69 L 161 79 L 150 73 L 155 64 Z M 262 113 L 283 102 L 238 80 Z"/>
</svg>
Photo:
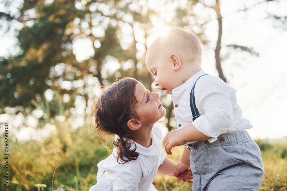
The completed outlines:
<svg viewBox="0 0 287 191">
<path fill-rule="evenodd" d="M 183 164 L 182 162 L 179 162 L 176 166 L 175 166 L 175 170 L 174 173 L 172 174 L 172 176 L 175 176 L 177 178 L 177 180 L 182 180 L 183 182 L 192 182 L 193 179 L 193 174 L 190 170 L 189 165 L 187 164 Z"/>
</svg>

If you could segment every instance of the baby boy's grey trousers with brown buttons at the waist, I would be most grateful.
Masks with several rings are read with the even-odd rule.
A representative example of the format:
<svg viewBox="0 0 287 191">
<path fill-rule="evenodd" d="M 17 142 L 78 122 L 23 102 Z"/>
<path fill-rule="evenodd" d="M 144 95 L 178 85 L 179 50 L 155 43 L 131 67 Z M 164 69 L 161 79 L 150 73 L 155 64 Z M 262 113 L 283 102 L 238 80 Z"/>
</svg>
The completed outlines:
<svg viewBox="0 0 287 191">
<path fill-rule="evenodd" d="M 213 143 L 190 144 L 192 190 L 256 190 L 263 180 L 261 151 L 247 131 L 222 134 Z"/>
</svg>

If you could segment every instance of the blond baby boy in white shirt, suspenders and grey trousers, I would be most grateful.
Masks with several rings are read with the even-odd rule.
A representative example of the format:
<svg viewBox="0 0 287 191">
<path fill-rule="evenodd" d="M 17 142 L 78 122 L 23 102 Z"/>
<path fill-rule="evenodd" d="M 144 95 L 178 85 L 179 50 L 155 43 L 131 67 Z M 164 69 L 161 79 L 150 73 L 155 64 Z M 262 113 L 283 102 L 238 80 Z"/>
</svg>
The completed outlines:
<svg viewBox="0 0 287 191">
<path fill-rule="evenodd" d="M 172 95 L 178 124 L 166 135 L 165 150 L 185 145 L 174 176 L 190 166 L 193 190 L 257 191 L 264 170 L 260 149 L 245 131 L 252 125 L 242 117 L 236 90 L 201 69 L 201 52 L 197 36 L 172 27 L 146 54 L 154 84 Z"/>
</svg>

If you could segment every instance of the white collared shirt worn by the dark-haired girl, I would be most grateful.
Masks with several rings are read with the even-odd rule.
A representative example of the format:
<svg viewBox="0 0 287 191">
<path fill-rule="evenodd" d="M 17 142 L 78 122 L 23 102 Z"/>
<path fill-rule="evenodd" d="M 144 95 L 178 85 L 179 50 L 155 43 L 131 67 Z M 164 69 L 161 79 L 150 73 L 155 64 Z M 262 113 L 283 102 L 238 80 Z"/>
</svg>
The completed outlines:
<svg viewBox="0 0 287 191">
<path fill-rule="evenodd" d="M 118 136 L 116 135 L 116 140 Z M 117 149 L 98 163 L 97 184 L 89 191 L 151 191 L 158 167 L 166 158 L 162 148 L 162 132 L 157 125 L 152 129 L 152 145 L 148 148 L 135 143 L 139 153 L 137 160 L 125 164 L 117 162 Z M 131 149 L 135 146 L 132 144 Z"/>
</svg>

